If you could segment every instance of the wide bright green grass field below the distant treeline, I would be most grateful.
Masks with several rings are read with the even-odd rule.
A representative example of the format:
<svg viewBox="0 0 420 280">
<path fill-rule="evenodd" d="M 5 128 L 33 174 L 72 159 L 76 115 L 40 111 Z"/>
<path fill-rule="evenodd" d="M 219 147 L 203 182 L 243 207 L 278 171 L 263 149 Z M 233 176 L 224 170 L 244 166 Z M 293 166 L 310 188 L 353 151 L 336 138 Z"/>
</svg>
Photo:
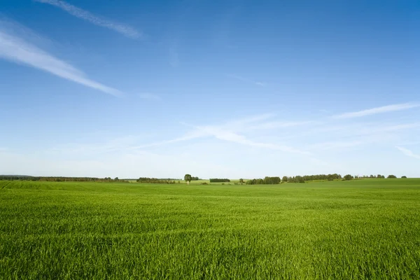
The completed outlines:
<svg viewBox="0 0 420 280">
<path fill-rule="evenodd" d="M 0 279 L 420 279 L 419 179 L 0 189 Z"/>
</svg>

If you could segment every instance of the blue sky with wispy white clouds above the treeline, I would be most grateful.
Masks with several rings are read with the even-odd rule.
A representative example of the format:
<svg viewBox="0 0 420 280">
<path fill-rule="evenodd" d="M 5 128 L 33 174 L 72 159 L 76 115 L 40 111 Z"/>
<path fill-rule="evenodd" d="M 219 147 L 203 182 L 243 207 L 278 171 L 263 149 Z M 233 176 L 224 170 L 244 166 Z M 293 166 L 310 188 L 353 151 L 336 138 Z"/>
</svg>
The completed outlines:
<svg viewBox="0 0 420 280">
<path fill-rule="evenodd" d="M 0 1 L 0 174 L 420 177 L 420 2 Z"/>
</svg>

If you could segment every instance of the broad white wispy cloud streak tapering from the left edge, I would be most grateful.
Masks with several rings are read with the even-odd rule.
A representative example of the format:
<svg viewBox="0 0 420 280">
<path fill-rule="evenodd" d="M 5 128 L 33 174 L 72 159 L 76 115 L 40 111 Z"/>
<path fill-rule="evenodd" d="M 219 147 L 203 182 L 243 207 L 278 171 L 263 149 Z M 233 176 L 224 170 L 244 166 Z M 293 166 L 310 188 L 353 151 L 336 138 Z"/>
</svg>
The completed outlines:
<svg viewBox="0 0 420 280">
<path fill-rule="evenodd" d="M 10 34 L 8 26 L 10 26 L 10 22 L 0 21 L 0 59 L 26 64 L 114 96 L 123 95 L 123 92 L 120 92 L 120 90 L 87 78 L 79 69 L 25 41 L 24 38 Z"/>
</svg>

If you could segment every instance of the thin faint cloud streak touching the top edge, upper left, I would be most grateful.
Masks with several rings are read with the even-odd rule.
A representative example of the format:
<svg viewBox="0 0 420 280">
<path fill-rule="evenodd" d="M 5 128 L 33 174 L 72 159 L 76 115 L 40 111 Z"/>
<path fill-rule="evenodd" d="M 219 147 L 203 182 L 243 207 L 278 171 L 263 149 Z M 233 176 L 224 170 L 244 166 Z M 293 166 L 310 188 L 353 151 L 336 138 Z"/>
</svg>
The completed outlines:
<svg viewBox="0 0 420 280">
<path fill-rule="evenodd" d="M 65 1 L 60 1 L 60 0 L 34 0 L 34 1 L 40 2 L 40 3 L 47 3 L 52 6 L 56 6 L 57 8 L 61 8 L 62 10 L 65 10 L 70 15 L 74 15 L 76 18 L 81 18 L 82 20 L 91 22 L 94 25 L 97 25 L 100 27 L 106 27 L 113 31 L 117 31 L 118 33 L 123 34 L 124 36 L 127 36 L 129 38 L 140 38 L 142 36 L 141 33 L 137 31 L 136 29 L 134 29 L 133 27 L 130 27 L 128 25 L 122 25 L 120 23 L 113 22 L 111 20 L 106 20 L 97 15 L 93 15 L 87 10 L 83 10 L 69 3 L 66 3 Z"/>
</svg>

